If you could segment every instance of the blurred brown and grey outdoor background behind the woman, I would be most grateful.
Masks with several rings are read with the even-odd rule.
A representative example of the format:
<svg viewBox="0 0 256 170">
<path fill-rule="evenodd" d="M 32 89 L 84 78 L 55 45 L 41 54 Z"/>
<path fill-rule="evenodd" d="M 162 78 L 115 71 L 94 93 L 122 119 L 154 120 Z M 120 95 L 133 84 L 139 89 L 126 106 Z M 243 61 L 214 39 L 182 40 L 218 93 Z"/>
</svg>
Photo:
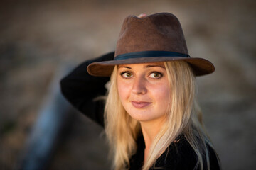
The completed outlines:
<svg viewBox="0 0 256 170">
<path fill-rule="evenodd" d="M 197 79 L 198 100 L 223 169 L 254 169 L 255 7 L 253 0 L 1 1 L 0 169 L 28 169 L 24 162 L 36 155 L 31 148 L 38 149 L 31 136 L 49 105 L 65 116 L 56 119 L 63 123 L 38 169 L 110 169 L 102 128 L 54 99 L 58 81 L 81 62 L 114 50 L 126 16 L 158 12 L 179 18 L 192 57 L 215 64 L 213 74 Z"/>
</svg>

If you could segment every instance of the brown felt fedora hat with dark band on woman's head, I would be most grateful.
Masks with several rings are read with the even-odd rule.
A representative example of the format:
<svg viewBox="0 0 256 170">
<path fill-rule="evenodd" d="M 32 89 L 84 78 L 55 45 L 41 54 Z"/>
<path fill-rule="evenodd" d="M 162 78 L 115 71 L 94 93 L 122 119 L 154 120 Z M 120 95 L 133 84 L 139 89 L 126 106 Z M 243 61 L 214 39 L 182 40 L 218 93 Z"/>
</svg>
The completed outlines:
<svg viewBox="0 0 256 170">
<path fill-rule="evenodd" d="M 156 13 L 144 18 L 127 16 L 119 34 L 114 60 L 94 62 L 87 71 L 93 76 L 109 77 L 114 65 L 174 60 L 188 62 L 196 76 L 215 70 L 208 60 L 188 55 L 181 24 L 173 14 Z"/>
</svg>

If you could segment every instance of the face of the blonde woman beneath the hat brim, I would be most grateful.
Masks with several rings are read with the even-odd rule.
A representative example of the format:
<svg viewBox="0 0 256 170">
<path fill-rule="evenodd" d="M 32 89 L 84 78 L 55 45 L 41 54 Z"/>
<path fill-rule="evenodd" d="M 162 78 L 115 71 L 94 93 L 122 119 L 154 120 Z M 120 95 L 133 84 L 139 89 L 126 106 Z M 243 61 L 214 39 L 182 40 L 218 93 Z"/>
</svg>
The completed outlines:
<svg viewBox="0 0 256 170">
<path fill-rule="evenodd" d="M 170 86 L 163 62 L 119 65 L 117 87 L 132 118 L 141 122 L 165 120 Z"/>
</svg>

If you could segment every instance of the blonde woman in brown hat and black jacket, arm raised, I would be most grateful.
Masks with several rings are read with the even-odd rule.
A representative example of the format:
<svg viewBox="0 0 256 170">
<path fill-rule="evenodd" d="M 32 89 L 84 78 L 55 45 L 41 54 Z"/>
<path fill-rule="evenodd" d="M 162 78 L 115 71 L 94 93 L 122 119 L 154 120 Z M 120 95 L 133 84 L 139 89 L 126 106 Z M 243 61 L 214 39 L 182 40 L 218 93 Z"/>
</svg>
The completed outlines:
<svg viewBox="0 0 256 170">
<path fill-rule="evenodd" d="M 195 76 L 212 72 L 188 55 L 178 18 L 156 13 L 125 18 L 115 53 L 81 64 L 61 87 L 105 127 L 114 169 L 220 169 L 195 98 Z M 104 102 L 95 97 L 105 95 L 107 77 Z"/>
</svg>

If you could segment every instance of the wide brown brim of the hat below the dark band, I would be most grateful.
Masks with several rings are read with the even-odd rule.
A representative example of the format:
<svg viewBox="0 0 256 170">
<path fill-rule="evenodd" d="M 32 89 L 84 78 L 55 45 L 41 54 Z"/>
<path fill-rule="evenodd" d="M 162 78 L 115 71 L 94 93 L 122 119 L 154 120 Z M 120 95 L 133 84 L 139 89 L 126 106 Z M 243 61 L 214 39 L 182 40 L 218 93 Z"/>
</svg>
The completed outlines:
<svg viewBox="0 0 256 170">
<path fill-rule="evenodd" d="M 115 65 L 120 64 L 139 64 L 150 62 L 169 62 L 169 61 L 185 61 L 193 69 L 196 76 L 202 76 L 214 72 L 214 65 L 203 58 L 192 57 L 142 57 L 142 58 L 129 58 L 125 60 L 110 60 L 104 62 L 93 62 L 87 67 L 87 71 L 92 76 L 96 77 L 110 77 Z"/>
</svg>

